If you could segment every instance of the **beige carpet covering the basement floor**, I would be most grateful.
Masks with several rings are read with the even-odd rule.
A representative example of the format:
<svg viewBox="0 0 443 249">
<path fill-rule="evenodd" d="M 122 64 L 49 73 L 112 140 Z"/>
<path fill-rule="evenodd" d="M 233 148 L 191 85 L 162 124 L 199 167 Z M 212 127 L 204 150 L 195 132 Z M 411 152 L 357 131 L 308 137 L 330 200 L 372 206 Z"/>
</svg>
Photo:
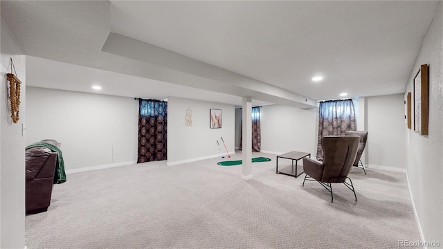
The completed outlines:
<svg viewBox="0 0 443 249">
<path fill-rule="evenodd" d="M 404 173 L 352 169 L 358 202 L 333 185 L 275 174 L 275 155 L 222 167 L 213 158 L 69 174 L 48 212 L 26 216 L 28 248 L 398 248 L 419 241 Z M 279 160 L 280 165 L 290 160 Z M 280 166 L 279 166 L 280 167 Z"/>
</svg>

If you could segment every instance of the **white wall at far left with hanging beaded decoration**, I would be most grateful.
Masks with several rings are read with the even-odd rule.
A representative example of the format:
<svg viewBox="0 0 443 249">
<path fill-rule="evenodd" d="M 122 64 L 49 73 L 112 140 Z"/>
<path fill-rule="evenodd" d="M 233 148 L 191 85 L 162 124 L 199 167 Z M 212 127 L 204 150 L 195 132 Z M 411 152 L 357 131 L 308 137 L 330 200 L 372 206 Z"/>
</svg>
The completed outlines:
<svg viewBox="0 0 443 249">
<path fill-rule="evenodd" d="M 19 121 L 10 118 L 9 82 L 12 58 L 21 81 Z M 1 19 L 0 73 L 0 248 L 24 248 L 25 238 L 25 139 L 21 124 L 26 121 L 26 57 L 8 25 Z"/>
</svg>

